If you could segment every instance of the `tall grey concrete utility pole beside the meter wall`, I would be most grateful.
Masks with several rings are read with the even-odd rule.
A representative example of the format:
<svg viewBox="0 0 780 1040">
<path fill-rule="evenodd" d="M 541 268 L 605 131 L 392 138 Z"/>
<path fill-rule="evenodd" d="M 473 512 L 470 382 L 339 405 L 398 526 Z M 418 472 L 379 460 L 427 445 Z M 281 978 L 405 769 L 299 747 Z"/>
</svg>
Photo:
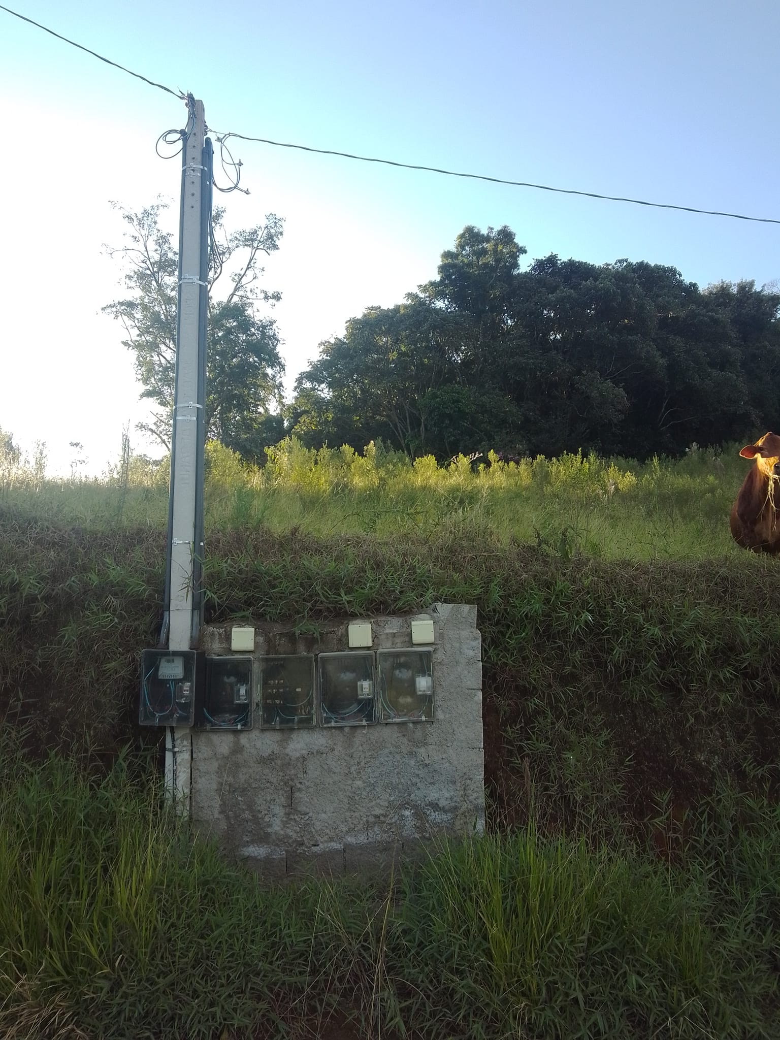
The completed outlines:
<svg viewBox="0 0 780 1040">
<path fill-rule="evenodd" d="M 203 264 L 204 192 L 209 191 L 203 165 L 206 118 L 202 101 L 188 99 L 188 134 L 182 149 L 182 207 L 179 241 L 179 302 L 176 342 L 176 386 L 171 446 L 171 501 L 168 517 L 170 602 L 168 649 L 189 650 L 198 634 L 200 596 L 196 596 L 194 557 L 198 544 L 196 515 L 198 496 L 203 495 L 199 475 L 203 472 L 204 380 L 199 379 L 199 343 L 205 342 L 208 292 Z M 209 192 L 210 198 L 210 192 Z M 202 502 L 201 502 L 202 506 Z M 201 514 L 202 515 L 202 514 Z M 199 618 L 193 618 L 193 610 Z M 192 740 L 186 727 L 168 727 L 165 739 L 165 789 L 180 811 L 187 813 L 190 795 Z"/>
</svg>

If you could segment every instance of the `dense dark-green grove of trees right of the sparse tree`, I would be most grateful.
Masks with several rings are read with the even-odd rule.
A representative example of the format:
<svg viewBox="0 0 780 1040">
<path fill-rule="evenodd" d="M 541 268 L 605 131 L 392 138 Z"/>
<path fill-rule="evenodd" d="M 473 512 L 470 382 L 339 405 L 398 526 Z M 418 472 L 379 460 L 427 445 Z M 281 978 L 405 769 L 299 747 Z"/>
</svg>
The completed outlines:
<svg viewBox="0 0 780 1040">
<path fill-rule="evenodd" d="M 284 432 L 412 458 L 646 459 L 780 427 L 780 294 L 642 261 L 521 270 L 525 252 L 510 228 L 465 228 L 435 281 L 320 344 Z"/>
</svg>

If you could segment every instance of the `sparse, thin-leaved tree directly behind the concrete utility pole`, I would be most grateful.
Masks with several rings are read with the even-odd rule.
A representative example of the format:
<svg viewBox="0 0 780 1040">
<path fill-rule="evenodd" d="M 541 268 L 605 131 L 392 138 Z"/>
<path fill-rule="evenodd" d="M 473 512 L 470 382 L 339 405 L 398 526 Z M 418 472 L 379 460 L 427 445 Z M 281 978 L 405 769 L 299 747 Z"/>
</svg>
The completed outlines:
<svg viewBox="0 0 780 1040">
<path fill-rule="evenodd" d="M 123 345 L 134 354 L 140 394 L 157 405 L 151 423 L 139 428 L 171 447 L 176 367 L 176 305 L 179 258 L 170 232 L 160 228 L 167 204 L 159 200 L 134 213 L 113 204 L 127 230 L 125 244 L 108 248 L 124 266 L 128 295 L 103 308 L 127 334 Z M 208 371 L 205 420 L 207 437 L 222 441 L 245 459 L 262 457 L 275 437 L 281 405 L 284 364 L 279 354 L 276 321 L 259 313 L 259 304 L 272 306 L 280 293 L 258 285 L 260 261 L 279 249 L 282 220 L 267 214 L 265 225 L 226 233 L 225 211 L 213 214 L 209 266 Z M 220 279 L 230 271 L 224 295 Z M 224 280 L 223 280 L 224 284 Z"/>
</svg>

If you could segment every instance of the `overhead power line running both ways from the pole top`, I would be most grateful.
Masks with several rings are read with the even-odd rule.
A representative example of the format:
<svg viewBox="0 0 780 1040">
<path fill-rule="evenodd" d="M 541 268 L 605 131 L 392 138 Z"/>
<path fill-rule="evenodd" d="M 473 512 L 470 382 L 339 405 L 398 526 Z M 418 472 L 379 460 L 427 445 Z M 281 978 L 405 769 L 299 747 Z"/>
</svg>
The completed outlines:
<svg viewBox="0 0 780 1040">
<path fill-rule="evenodd" d="M 165 90 L 167 94 L 172 94 L 175 98 L 186 100 L 187 96 L 181 90 L 173 90 L 170 86 L 164 86 L 162 83 L 155 83 L 154 80 L 147 79 L 147 77 L 141 76 L 140 73 L 133 72 L 131 69 L 126 69 L 116 61 L 111 61 L 110 58 L 106 58 L 102 54 L 98 54 L 97 51 L 92 51 L 88 47 L 83 47 L 81 44 L 77 44 L 75 41 L 69 40 L 67 36 L 62 36 L 58 32 L 54 32 L 53 29 L 49 29 L 45 25 L 41 25 L 40 22 L 33 22 L 31 18 L 26 18 L 24 15 L 20 15 L 19 11 L 11 10 L 10 7 L 5 7 L 3 4 L 0 4 L 0 10 L 4 10 L 8 15 L 14 15 L 15 18 L 19 18 L 23 22 L 28 22 L 30 25 L 34 25 L 37 29 L 43 29 L 44 32 L 48 32 L 50 35 L 56 36 L 57 40 L 61 40 L 63 43 L 70 44 L 72 47 L 77 47 L 80 51 L 85 51 L 87 54 L 92 54 L 93 57 L 99 58 L 101 61 L 105 61 L 106 64 L 113 66 L 114 69 L 120 69 L 122 72 L 126 72 L 129 76 L 134 76 L 135 79 L 144 80 L 144 82 L 149 83 L 150 86 L 156 86 L 160 90 Z M 700 209 L 696 206 L 677 206 L 672 203 L 649 202 L 646 199 L 629 199 L 626 196 L 608 196 L 602 194 L 598 191 L 581 191 L 577 188 L 557 188 L 552 187 L 549 184 L 534 184 L 530 181 L 511 181 L 502 177 L 489 177 L 487 174 L 467 174 L 462 171 L 443 170 L 440 166 L 424 166 L 420 163 L 399 162 L 395 159 L 380 159 L 375 156 L 356 155 L 352 152 L 337 152 L 334 149 L 312 148 L 309 145 L 292 145 L 288 141 L 269 140 L 267 137 L 251 137 L 248 134 L 235 133 L 233 131 L 225 134 L 217 134 L 215 131 L 212 132 L 222 146 L 225 145 L 229 137 L 236 137 L 238 140 L 256 141 L 260 145 L 270 145 L 274 148 L 291 148 L 301 152 L 312 152 L 315 155 L 335 155 L 341 159 L 353 159 L 358 162 L 374 162 L 383 166 L 395 166 L 399 170 L 419 170 L 428 174 L 441 174 L 444 177 L 461 177 L 472 181 L 487 181 L 490 184 L 506 184 L 510 187 L 534 188 L 537 191 L 552 191 L 557 194 L 581 196 L 586 199 L 601 199 L 605 202 L 625 202 L 630 203 L 633 206 L 649 206 L 653 209 L 674 209 L 680 210 L 684 213 L 701 213 L 705 216 L 726 216 L 734 220 L 750 220 L 754 224 L 780 224 L 780 219 L 776 219 L 771 216 L 747 216 L 745 213 L 728 213 L 719 209 Z M 240 162 L 233 163 L 232 159 L 229 164 L 234 166 L 236 170 L 240 167 Z M 225 162 L 223 162 L 223 165 L 225 165 Z M 238 184 L 236 181 L 236 183 L 228 190 L 236 190 Z M 238 190 L 244 189 L 238 188 Z"/>
</svg>

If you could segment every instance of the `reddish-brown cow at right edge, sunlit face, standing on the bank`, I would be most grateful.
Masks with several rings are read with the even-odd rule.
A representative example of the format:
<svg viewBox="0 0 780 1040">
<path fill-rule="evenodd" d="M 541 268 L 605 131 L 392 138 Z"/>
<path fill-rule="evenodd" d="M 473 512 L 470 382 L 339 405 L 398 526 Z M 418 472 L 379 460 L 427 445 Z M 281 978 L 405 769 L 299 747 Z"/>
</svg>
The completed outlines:
<svg viewBox="0 0 780 1040">
<path fill-rule="evenodd" d="M 755 444 L 746 444 L 739 454 L 756 462 L 731 509 L 731 534 L 744 549 L 780 552 L 780 437 L 764 434 Z"/>
</svg>

